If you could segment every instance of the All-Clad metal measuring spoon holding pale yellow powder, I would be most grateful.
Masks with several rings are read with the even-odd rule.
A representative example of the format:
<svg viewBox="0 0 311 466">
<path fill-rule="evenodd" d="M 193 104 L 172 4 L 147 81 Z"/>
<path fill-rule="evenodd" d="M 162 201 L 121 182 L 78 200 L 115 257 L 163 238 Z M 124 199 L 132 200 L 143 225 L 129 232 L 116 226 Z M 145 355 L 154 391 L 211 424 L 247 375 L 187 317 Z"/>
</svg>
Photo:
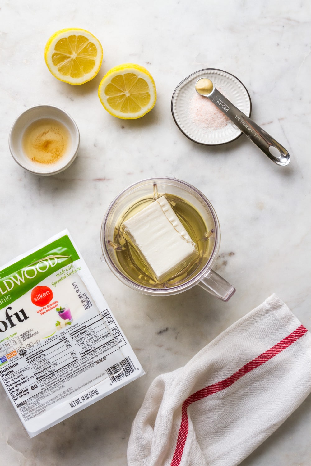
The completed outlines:
<svg viewBox="0 0 311 466">
<path fill-rule="evenodd" d="M 198 79 L 195 83 L 195 90 L 201 96 L 207 97 L 219 110 L 227 115 L 227 117 L 235 123 L 235 126 L 256 144 L 272 162 L 283 166 L 290 163 L 290 154 L 286 149 L 241 110 L 236 108 L 233 103 L 229 102 L 228 99 L 214 87 L 210 79 Z"/>
</svg>

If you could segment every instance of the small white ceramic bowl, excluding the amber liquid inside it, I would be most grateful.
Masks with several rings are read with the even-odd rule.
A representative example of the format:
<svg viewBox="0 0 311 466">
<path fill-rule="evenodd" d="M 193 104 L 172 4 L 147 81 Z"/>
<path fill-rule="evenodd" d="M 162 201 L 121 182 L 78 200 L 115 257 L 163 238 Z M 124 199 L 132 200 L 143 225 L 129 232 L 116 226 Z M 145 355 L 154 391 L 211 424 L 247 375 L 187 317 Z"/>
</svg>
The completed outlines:
<svg viewBox="0 0 311 466">
<path fill-rule="evenodd" d="M 52 118 L 59 121 L 66 126 L 71 137 L 69 150 L 54 164 L 45 165 L 33 162 L 27 157 L 22 148 L 22 137 L 25 130 L 31 123 L 42 118 Z M 76 158 L 79 143 L 80 134 L 73 118 L 65 110 L 53 105 L 36 105 L 25 110 L 16 118 L 9 134 L 9 148 L 15 162 L 25 168 L 25 170 L 37 175 L 55 175 L 68 168 Z"/>
</svg>

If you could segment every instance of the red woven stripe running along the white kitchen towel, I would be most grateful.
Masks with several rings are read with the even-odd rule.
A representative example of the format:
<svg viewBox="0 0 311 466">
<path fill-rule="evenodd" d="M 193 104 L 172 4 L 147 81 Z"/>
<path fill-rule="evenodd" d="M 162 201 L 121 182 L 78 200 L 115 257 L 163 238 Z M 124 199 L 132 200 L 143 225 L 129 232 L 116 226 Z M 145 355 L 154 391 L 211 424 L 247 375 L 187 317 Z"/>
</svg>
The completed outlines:
<svg viewBox="0 0 311 466">
<path fill-rule="evenodd" d="M 290 333 L 290 335 L 283 338 L 279 343 L 272 346 L 272 348 L 265 351 L 260 356 L 257 356 L 255 359 L 250 361 L 249 363 L 245 364 L 241 369 L 237 370 L 232 376 L 221 380 L 221 382 L 217 382 L 216 384 L 209 385 L 208 387 L 202 388 L 201 390 L 196 391 L 192 395 L 190 395 L 182 404 L 181 407 L 181 423 L 180 429 L 178 432 L 177 437 L 177 444 L 175 448 L 175 452 L 173 455 L 173 459 L 171 462 L 171 466 L 179 466 L 181 461 L 181 456 L 184 451 L 184 446 L 187 440 L 188 435 L 188 414 L 187 414 L 187 407 L 194 403 L 195 401 L 201 400 L 202 398 L 208 397 L 209 395 L 213 395 L 213 393 L 217 393 L 217 391 L 224 390 L 228 388 L 230 385 L 234 384 L 239 378 L 243 377 L 245 374 L 250 372 L 256 367 L 261 366 L 263 363 L 266 363 L 272 357 L 276 356 L 277 354 L 281 353 L 283 349 L 288 348 L 292 343 L 295 343 L 298 338 L 303 336 L 307 332 L 307 329 L 300 325 L 294 332 Z"/>
</svg>

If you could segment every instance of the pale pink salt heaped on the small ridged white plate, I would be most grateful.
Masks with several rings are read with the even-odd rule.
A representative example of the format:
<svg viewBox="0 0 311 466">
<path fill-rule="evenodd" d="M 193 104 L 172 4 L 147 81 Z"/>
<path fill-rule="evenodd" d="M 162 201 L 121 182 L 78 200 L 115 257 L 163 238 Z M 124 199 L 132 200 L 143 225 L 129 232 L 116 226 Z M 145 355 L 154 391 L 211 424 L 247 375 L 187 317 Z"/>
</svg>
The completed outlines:
<svg viewBox="0 0 311 466">
<path fill-rule="evenodd" d="M 227 97 L 220 88 L 218 89 Z M 213 102 L 195 91 L 189 105 L 189 118 L 204 130 L 220 130 L 230 121 Z"/>
</svg>

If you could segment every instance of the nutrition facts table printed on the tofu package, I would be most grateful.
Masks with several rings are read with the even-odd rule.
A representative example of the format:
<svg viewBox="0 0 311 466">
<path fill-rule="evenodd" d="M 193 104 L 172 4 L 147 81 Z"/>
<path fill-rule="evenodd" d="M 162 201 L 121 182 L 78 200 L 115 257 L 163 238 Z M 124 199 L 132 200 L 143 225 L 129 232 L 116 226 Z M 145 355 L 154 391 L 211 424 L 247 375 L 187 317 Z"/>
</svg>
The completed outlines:
<svg viewBox="0 0 311 466">
<path fill-rule="evenodd" d="M 94 310 L 96 312 L 94 312 Z M 0 377 L 25 420 L 59 399 L 111 376 L 109 368 L 124 359 L 126 344 L 108 309 L 37 340 L 34 349 L 0 369 Z M 131 371 L 132 372 L 132 371 Z"/>
</svg>

